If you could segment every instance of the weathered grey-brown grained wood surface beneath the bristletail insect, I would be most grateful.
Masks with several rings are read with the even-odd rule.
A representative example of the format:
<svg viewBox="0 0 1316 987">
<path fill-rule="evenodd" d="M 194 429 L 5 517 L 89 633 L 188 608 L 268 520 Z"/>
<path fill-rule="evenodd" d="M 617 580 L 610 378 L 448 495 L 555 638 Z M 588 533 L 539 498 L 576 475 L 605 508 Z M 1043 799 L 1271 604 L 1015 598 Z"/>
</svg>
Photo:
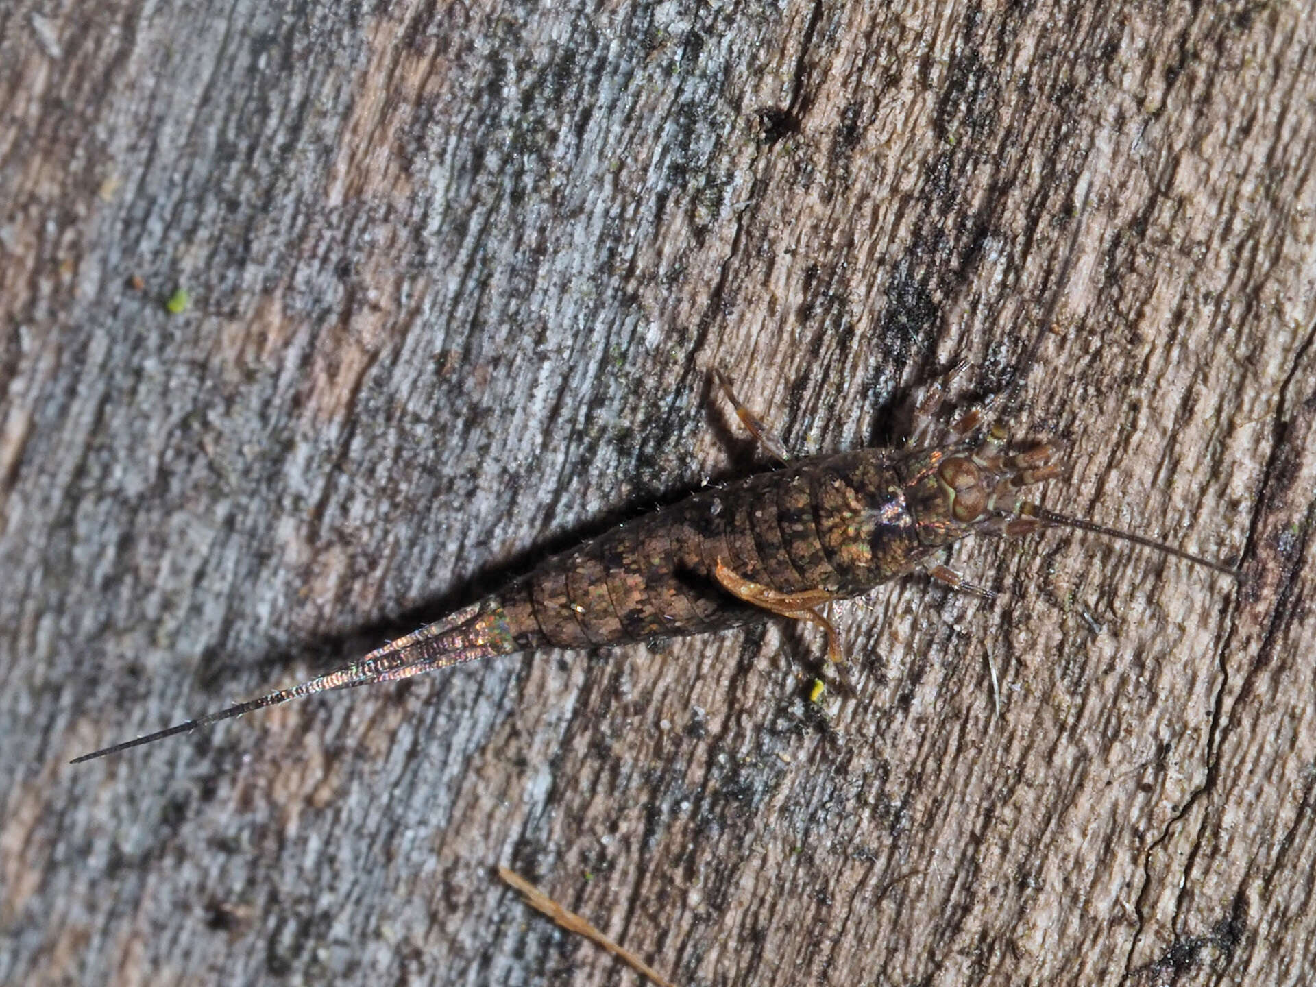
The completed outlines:
<svg viewBox="0 0 1316 987">
<path fill-rule="evenodd" d="M 8 4 L 0 980 L 634 982 L 508 863 L 682 984 L 1311 982 L 1313 37 L 1290 3 Z M 821 642 L 769 628 L 67 765 L 754 468 L 715 365 L 817 451 L 957 357 L 1026 375 L 1049 503 L 1246 590 L 966 544 L 995 605 L 840 609 L 834 736 Z"/>
</svg>

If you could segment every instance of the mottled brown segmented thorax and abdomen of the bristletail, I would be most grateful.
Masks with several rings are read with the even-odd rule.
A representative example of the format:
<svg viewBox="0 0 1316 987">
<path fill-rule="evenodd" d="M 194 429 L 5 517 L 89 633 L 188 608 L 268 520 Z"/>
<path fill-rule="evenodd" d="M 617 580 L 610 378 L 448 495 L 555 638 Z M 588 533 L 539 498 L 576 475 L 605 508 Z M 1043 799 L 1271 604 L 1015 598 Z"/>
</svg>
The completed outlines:
<svg viewBox="0 0 1316 987">
<path fill-rule="evenodd" d="M 899 476 L 859 450 L 700 491 L 546 559 L 496 597 L 520 647 L 617 645 L 761 620 L 717 583 L 719 559 L 774 590 L 846 596 L 908 569 L 916 546 Z"/>
</svg>

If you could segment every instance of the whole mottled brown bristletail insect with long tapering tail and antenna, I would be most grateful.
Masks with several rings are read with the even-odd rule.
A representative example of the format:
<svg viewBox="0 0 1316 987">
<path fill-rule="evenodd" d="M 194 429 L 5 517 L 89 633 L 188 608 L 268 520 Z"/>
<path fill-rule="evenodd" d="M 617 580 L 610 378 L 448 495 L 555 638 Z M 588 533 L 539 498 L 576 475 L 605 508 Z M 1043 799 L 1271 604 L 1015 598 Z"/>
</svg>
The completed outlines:
<svg viewBox="0 0 1316 987">
<path fill-rule="evenodd" d="M 780 442 L 736 399 L 725 379 L 722 387 L 749 430 L 784 459 Z M 934 384 L 920 401 L 915 442 L 905 450 L 861 449 L 799 459 L 700 491 L 547 558 L 499 592 L 357 662 L 78 761 L 325 690 L 536 647 L 596 647 L 722 630 L 772 615 L 822 626 L 830 655 L 838 661 L 836 632 L 819 612 L 821 604 L 869 592 L 928 565 L 938 550 L 976 532 L 1017 536 L 1040 524 L 1061 524 L 1233 572 L 1024 500 L 1023 487 L 1058 475 L 1051 447 L 1042 443 L 1008 454 L 999 430 L 969 441 L 976 413 L 951 426 L 951 441 L 925 443 L 921 440 L 933 430 L 941 393 Z M 928 571 L 955 588 L 991 596 L 945 566 L 928 565 Z"/>
</svg>

